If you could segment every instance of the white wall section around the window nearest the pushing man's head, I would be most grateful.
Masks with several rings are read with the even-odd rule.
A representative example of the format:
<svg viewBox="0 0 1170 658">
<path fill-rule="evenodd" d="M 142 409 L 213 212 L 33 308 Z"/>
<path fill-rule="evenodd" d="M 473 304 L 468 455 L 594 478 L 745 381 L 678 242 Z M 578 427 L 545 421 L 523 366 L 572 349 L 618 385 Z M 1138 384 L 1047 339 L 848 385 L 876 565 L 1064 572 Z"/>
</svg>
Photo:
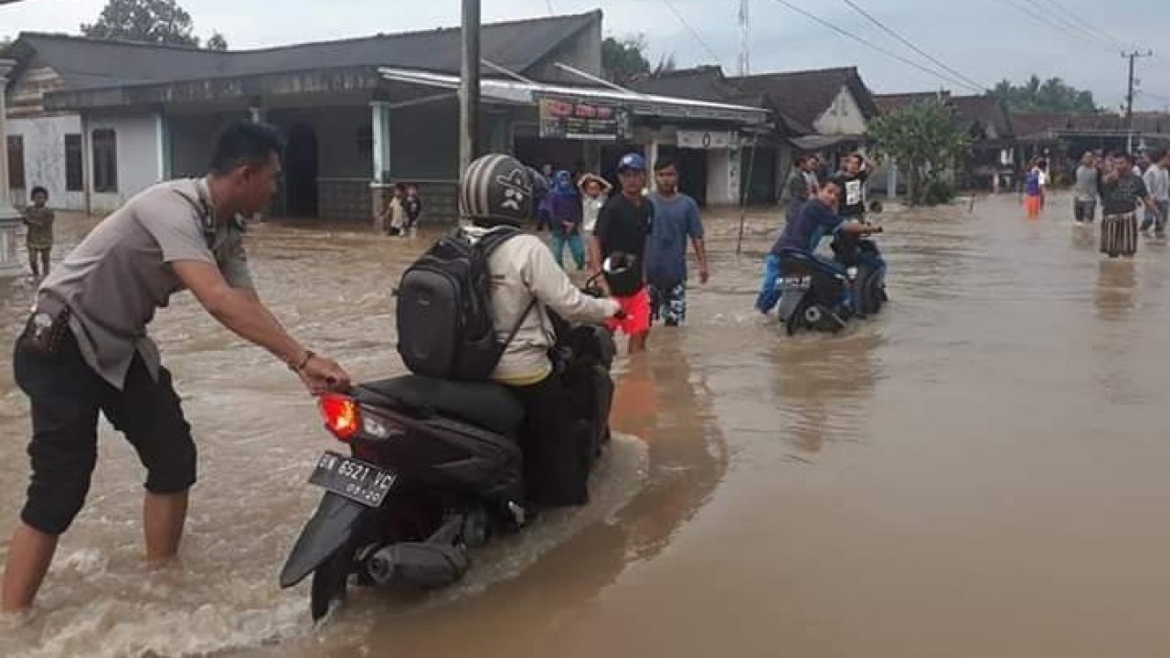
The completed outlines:
<svg viewBox="0 0 1170 658">
<path fill-rule="evenodd" d="M 85 139 L 89 152 L 85 157 L 90 160 L 85 173 L 90 187 L 94 185 L 94 131 L 112 129 L 118 144 L 118 191 L 94 193 L 90 200 L 92 212 L 112 212 L 130 197 L 163 179 L 159 123 L 156 114 L 95 116 L 89 118 L 85 128 L 89 131 Z"/>
</svg>

